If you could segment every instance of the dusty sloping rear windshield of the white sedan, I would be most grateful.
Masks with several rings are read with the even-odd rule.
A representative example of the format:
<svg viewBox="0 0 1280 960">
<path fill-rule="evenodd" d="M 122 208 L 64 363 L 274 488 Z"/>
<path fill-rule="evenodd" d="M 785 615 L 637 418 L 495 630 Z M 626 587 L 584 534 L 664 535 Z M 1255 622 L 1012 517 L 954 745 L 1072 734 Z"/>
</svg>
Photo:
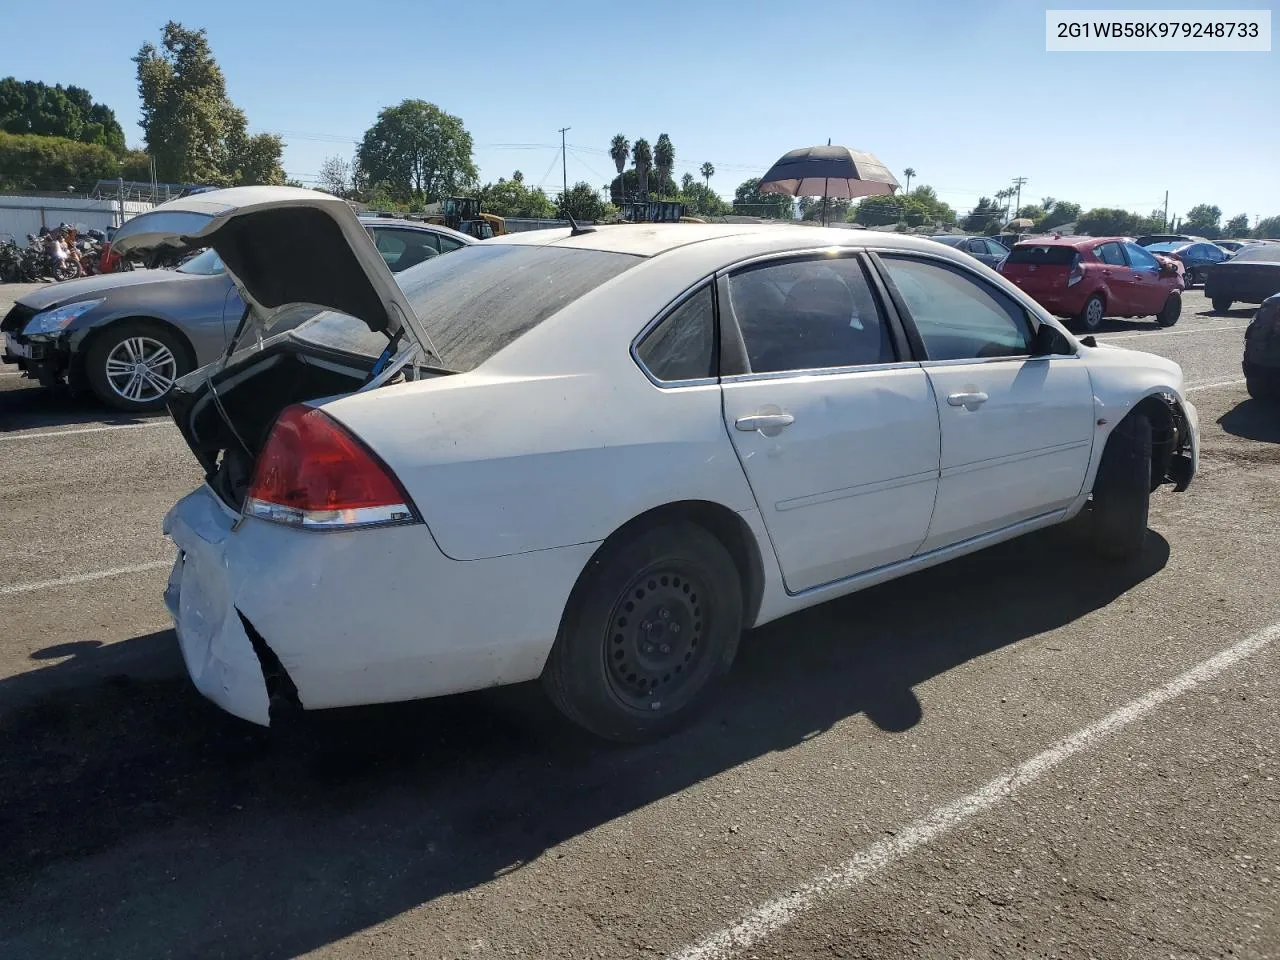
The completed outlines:
<svg viewBox="0 0 1280 960">
<path fill-rule="evenodd" d="M 397 276 L 449 370 L 472 370 L 643 257 L 477 243 Z"/>
</svg>

